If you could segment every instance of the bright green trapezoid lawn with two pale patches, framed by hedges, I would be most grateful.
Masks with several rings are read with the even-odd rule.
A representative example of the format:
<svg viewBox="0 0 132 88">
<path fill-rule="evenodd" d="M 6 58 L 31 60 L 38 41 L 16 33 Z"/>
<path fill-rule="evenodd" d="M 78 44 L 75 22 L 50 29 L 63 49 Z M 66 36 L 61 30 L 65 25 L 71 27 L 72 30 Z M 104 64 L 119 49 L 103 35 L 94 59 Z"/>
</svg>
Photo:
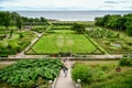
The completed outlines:
<svg viewBox="0 0 132 88">
<path fill-rule="evenodd" d="M 70 30 L 52 30 L 32 47 L 36 53 L 91 53 L 96 47 L 82 35 Z"/>
</svg>

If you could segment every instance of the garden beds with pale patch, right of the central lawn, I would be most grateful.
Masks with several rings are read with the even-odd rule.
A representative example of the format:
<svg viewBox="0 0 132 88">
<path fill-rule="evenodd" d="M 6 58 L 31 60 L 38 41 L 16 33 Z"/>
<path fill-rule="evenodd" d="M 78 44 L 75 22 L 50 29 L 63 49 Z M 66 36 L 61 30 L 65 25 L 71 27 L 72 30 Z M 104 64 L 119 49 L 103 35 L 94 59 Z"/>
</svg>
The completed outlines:
<svg viewBox="0 0 132 88">
<path fill-rule="evenodd" d="M 132 40 L 125 34 L 102 28 L 87 29 L 87 34 L 109 54 L 132 53 Z"/>
</svg>

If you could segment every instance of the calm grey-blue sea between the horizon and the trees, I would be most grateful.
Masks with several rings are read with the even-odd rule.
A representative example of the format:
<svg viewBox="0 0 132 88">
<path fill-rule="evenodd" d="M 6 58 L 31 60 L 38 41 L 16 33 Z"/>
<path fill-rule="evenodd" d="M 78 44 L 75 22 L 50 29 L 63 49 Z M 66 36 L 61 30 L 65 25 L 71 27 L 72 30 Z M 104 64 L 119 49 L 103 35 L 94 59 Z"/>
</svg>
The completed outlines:
<svg viewBox="0 0 132 88">
<path fill-rule="evenodd" d="M 23 16 L 40 18 L 59 21 L 95 21 L 95 18 L 106 14 L 127 14 L 132 11 L 18 11 Z"/>
</svg>

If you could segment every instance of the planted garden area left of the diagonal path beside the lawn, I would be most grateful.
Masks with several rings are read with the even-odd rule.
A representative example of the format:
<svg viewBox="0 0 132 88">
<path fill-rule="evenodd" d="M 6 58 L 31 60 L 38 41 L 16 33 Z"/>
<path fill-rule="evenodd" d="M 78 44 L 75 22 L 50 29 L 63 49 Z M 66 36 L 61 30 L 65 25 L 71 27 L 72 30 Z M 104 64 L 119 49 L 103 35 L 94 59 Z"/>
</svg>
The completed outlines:
<svg viewBox="0 0 132 88">
<path fill-rule="evenodd" d="M 32 31 L 0 30 L 0 56 L 7 57 L 22 52 L 36 37 Z"/>
</svg>

